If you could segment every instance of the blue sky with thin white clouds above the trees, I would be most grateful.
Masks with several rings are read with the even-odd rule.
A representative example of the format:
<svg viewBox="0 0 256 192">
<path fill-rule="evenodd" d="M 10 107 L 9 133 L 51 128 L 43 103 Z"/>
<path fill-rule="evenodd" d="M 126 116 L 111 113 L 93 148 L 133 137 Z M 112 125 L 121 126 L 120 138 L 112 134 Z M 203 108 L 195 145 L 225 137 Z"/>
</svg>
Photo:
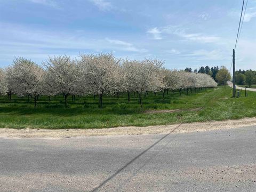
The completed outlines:
<svg viewBox="0 0 256 192">
<path fill-rule="evenodd" d="M 114 53 L 169 69 L 230 69 L 242 0 L 0 0 L 0 67 L 25 57 Z M 236 68 L 256 69 L 256 0 L 249 0 Z"/>
</svg>

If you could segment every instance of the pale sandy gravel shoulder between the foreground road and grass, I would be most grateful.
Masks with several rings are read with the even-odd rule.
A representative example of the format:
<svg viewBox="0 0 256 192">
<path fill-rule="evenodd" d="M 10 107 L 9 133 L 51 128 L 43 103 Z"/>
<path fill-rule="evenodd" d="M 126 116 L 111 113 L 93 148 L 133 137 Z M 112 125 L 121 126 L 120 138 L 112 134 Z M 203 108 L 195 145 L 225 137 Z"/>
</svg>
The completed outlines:
<svg viewBox="0 0 256 192">
<path fill-rule="evenodd" d="M 107 135 L 139 135 L 156 133 L 188 133 L 199 131 L 212 131 L 222 129 L 235 129 L 238 127 L 256 125 L 256 118 L 243 118 L 238 120 L 212 121 L 205 123 L 183 123 L 173 125 L 159 125 L 147 127 L 113 127 L 108 129 L 0 129 L 0 138 L 45 138 L 63 139 L 70 137 L 91 137 Z"/>
</svg>

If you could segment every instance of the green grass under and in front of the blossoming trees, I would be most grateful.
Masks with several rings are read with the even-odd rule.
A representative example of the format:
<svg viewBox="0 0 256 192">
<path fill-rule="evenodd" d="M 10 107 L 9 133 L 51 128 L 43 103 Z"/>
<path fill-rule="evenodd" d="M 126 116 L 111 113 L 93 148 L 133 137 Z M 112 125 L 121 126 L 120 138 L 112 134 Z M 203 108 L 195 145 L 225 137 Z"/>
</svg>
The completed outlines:
<svg viewBox="0 0 256 192">
<path fill-rule="evenodd" d="M 140 108 L 138 95 L 131 94 L 130 103 L 127 94 L 117 97 L 103 97 L 103 108 L 98 108 L 98 98 L 76 97 L 75 102 L 68 98 L 69 108 L 65 108 L 64 98 L 59 95 L 49 102 L 47 97 L 39 97 L 34 108 L 33 100 L 7 96 L 0 97 L 0 127 L 5 128 L 102 128 L 116 126 L 167 125 L 187 122 L 206 122 L 211 120 L 236 119 L 256 116 L 256 93 L 248 92 L 248 97 L 231 98 L 230 87 L 219 86 L 216 89 L 201 90 L 186 95 L 182 92 L 165 94 L 149 93 L 142 98 Z M 202 108 L 197 111 L 187 109 Z M 175 113 L 145 113 L 147 110 L 183 109 Z M 186 111 L 187 110 L 187 111 Z"/>
</svg>

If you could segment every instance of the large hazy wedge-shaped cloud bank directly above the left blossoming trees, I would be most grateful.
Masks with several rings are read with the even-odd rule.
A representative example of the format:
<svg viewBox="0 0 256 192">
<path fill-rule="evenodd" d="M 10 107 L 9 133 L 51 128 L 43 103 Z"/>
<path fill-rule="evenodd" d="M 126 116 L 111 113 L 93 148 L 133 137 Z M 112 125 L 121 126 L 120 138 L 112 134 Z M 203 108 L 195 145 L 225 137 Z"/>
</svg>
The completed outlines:
<svg viewBox="0 0 256 192">
<path fill-rule="evenodd" d="M 85 33 L 78 33 L 75 30 L 69 33 L 55 33 L 1 22 L 0 28 L 0 58 L 6 61 L 22 56 L 40 62 L 47 59 L 47 55 L 78 55 L 79 52 L 118 50 L 126 52 L 127 55 L 147 52 L 132 43 L 110 38 L 87 37 Z"/>
</svg>

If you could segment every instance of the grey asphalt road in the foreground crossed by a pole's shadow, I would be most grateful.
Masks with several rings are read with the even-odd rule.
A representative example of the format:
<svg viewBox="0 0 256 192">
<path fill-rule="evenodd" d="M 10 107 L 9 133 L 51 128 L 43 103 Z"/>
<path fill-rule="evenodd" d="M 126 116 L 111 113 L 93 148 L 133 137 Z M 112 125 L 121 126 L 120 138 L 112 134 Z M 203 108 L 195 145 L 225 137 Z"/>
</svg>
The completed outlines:
<svg viewBox="0 0 256 192">
<path fill-rule="evenodd" d="M 256 191 L 256 126 L 0 139 L 0 191 Z"/>
</svg>

